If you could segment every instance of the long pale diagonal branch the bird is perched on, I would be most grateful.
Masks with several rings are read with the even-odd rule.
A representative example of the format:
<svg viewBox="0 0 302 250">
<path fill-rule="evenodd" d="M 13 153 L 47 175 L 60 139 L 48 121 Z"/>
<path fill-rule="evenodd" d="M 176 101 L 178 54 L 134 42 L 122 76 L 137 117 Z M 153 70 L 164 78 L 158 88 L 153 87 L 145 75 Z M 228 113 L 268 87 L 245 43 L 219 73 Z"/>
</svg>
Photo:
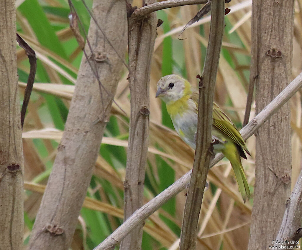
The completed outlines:
<svg viewBox="0 0 302 250">
<path fill-rule="evenodd" d="M 269 103 L 257 116 L 255 116 L 248 125 L 240 130 L 243 139 L 248 139 L 257 131 L 268 119 L 271 118 L 275 112 L 280 109 L 300 88 L 302 87 L 302 73 L 300 73 L 288 86 Z M 223 154 L 217 154 L 210 166 L 214 166 L 223 158 Z M 176 182 L 174 182 L 167 189 L 162 191 L 159 195 L 154 197 L 151 201 L 136 210 L 122 225 L 120 225 L 111 235 L 109 235 L 101 244 L 94 250 L 109 250 L 114 249 L 115 245 L 119 243 L 133 228 L 142 223 L 143 220 L 153 214 L 165 202 L 171 199 L 182 191 L 189 183 L 191 171 L 186 173 Z"/>
</svg>

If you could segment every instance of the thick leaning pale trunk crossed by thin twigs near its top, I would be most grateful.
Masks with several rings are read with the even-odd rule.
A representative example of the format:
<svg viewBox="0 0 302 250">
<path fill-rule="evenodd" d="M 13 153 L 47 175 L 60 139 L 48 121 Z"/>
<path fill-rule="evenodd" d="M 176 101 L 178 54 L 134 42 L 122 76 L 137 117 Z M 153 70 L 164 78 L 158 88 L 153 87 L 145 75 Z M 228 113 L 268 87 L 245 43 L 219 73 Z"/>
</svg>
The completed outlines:
<svg viewBox="0 0 302 250">
<path fill-rule="evenodd" d="M 122 0 L 96 0 L 62 141 L 34 223 L 29 249 L 64 249 L 72 241 L 77 219 L 109 120 L 112 97 L 127 46 L 127 16 Z M 117 55 L 119 54 L 119 56 Z M 90 64 L 89 64 L 89 63 Z M 100 89 L 95 77 L 106 88 Z"/>
</svg>

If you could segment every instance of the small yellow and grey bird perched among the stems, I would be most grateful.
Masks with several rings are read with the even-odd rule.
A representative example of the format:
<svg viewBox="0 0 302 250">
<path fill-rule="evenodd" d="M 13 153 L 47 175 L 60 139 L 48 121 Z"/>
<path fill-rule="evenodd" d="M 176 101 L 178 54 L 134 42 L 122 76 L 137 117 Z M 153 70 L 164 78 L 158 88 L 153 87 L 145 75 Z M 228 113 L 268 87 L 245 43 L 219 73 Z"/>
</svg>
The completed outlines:
<svg viewBox="0 0 302 250">
<path fill-rule="evenodd" d="M 197 134 L 198 96 L 199 93 L 191 87 L 191 84 L 176 74 L 166 75 L 157 83 L 155 97 L 160 97 L 165 102 L 176 132 L 194 150 Z M 245 152 L 251 154 L 236 126 L 215 102 L 213 103 L 212 140 L 213 138 L 215 139 L 213 151 L 223 153 L 230 161 L 245 203 L 246 199 L 250 198 L 251 192 L 240 157 L 247 159 Z"/>
</svg>

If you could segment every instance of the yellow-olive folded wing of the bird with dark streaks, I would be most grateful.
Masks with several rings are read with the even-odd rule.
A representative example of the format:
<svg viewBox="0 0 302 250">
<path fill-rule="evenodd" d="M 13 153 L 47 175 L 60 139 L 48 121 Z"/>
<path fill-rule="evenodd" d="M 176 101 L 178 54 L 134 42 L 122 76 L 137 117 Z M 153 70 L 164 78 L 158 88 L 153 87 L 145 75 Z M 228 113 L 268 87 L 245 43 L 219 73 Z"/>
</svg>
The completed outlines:
<svg viewBox="0 0 302 250">
<path fill-rule="evenodd" d="M 198 110 L 198 95 L 198 92 L 194 91 L 190 97 L 190 99 L 196 104 L 196 112 Z M 223 134 L 230 137 L 237 145 L 242 147 L 246 153 L 251 155 L 234 123 L 226 116 L 216 103 L 213 103 L 213 126 Z"/>
</svg>

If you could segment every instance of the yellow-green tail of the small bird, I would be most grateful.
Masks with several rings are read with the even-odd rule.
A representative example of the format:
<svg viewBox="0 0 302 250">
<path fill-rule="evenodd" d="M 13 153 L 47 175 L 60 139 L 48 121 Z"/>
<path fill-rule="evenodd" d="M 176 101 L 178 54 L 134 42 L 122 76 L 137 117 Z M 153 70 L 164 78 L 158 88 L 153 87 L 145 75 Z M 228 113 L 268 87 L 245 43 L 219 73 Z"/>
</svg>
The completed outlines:
<svg viewBox="0 0 302 250">
<path fill-rule="evenodd" d="M 229 145 L 232 147 L 233 145 Z M 230 153 L 232 152 L 232 153 Z M 241 164 L 240 155 L 237 149 L 233 150 L 224 150 L 224 156 L 230 161 L 235 177 L 239 186 L 239 191 L 243 198 L 244 203 L 246 202 L 246 198 L 249 199 L 251 197 L 251 191 L 249 190 L 249 184 L 247 183 L 246 176 L 243 170 L 243 166 Z"/>
</svg>

